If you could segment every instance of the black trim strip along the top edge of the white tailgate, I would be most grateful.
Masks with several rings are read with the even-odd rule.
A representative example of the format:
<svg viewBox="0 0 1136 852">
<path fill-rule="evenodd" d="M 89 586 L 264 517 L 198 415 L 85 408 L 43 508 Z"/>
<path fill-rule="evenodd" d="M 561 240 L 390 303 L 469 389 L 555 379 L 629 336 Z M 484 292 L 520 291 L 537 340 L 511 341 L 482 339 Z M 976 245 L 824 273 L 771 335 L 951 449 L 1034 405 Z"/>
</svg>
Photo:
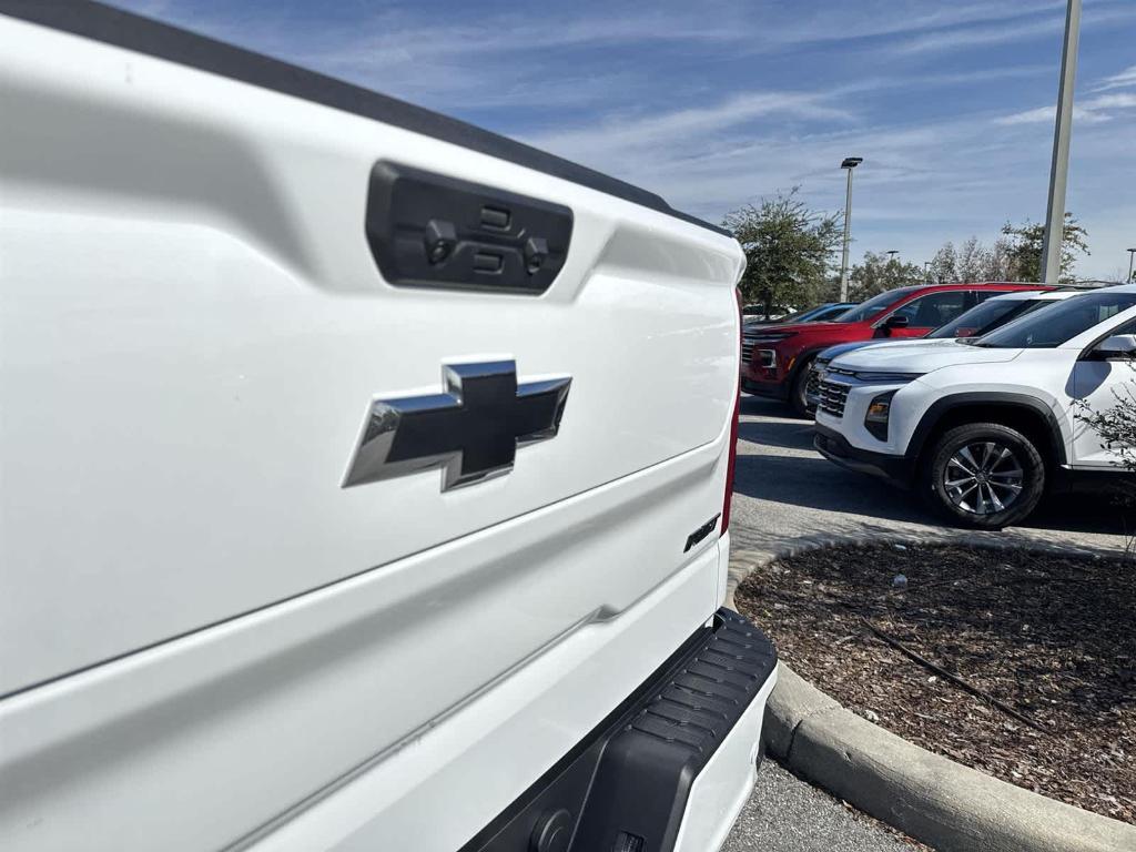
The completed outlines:
<svg viewBox="0 0 1136 852">
<path fill-rule="evenodd" d="M 730 235 L 717 225 L 675 210 L 653 192 L 523 142 L 132 12 L 89 0 L 0 0 L 0 14 L 420 133 Z"/>
</svg>

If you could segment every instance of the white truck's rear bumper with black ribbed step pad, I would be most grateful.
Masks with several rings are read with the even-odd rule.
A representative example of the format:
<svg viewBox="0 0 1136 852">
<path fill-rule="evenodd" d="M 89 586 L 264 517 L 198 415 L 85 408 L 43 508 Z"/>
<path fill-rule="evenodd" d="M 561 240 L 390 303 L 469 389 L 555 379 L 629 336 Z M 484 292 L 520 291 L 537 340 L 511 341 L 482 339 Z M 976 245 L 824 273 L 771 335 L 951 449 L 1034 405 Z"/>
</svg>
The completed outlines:
<svg viewBox="0 0 1136 852">
<path fill-rule="evenodd" d="M 753 786 L 777 652 L 726 609 L 461 852 L 707 852 Z M 567 840 L 570 837 L 570 842 Z"/>
</svg>

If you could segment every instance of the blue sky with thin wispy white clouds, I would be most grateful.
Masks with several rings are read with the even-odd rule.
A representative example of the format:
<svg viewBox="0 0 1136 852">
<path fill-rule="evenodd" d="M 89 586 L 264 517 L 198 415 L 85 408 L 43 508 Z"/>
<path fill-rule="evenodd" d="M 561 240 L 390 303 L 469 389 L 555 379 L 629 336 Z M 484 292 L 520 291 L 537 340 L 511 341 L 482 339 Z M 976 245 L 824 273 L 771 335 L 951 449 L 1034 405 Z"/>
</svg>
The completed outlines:
<svg viewBox="0 0 1136 852">
<path fill-rule="evenodd" d="M 463 118 L 707 219 L 800 186 L 853 257 L 1039 220 L 1064 0 L 117 6 Z M 1136 2 L 1085 0 L 1068 209 L 1081 277 L 1136 247 Z"/>
</svg>

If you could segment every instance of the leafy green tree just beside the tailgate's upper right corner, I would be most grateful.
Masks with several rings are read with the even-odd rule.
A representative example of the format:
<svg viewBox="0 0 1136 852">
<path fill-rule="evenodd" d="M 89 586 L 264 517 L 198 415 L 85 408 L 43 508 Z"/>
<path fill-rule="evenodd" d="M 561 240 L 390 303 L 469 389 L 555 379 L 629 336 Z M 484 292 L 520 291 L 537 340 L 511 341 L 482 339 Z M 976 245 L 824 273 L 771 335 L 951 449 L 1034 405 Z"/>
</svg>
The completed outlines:
<svg viewBox="0 0 1136 852">
<path fill-rule="evenodd" d="M 840 215 L 809 209 L 796 192 L 794 187 L 755 207 L 746 204 L 722 220 L 745 251 L 742 296 L 762 304 L 766 314 L 775 307 L 802 308 L 820 301 L 825 274 L 841 241 Z"/>
</svg>

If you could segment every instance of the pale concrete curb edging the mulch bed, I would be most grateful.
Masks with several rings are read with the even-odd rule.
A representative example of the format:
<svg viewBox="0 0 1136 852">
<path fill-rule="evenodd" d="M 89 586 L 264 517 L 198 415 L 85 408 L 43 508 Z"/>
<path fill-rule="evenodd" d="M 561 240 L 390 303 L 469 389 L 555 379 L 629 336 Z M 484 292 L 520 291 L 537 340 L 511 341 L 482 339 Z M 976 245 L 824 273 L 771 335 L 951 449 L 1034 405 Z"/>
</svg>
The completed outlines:
<svg viewBox="0 0 1136 852">
<path fill-rule="evenodd" d="M 1070 552 L 1070 548 L 1020 538 L 967 543 L 992 549 L 1027 546 Z M 896 536 L 892 541 L 961 543 L 959 536 Z M 872 536 L 872 542 L 880 538 Z M 762 562 L 835 543 L 811 542 Z M 1076 549 L 1116 556 L 1112 550 Z M 732 566 L 733 579 L 733 566 Z M 743 575 L 744 577 L 744 575 Z M 741 582 L 738 578 L 737 582 Z M 730 604 L 733 603 L 730 587 Z M 933 754 L 842 707 L 803 680 L 784 662 L 766 708 L 766 752 L 796 775 L 844 799 L 866 813 L 943 852 L 1131 852 L 1136 826 L 1058 802 Z"/>
</svg>

